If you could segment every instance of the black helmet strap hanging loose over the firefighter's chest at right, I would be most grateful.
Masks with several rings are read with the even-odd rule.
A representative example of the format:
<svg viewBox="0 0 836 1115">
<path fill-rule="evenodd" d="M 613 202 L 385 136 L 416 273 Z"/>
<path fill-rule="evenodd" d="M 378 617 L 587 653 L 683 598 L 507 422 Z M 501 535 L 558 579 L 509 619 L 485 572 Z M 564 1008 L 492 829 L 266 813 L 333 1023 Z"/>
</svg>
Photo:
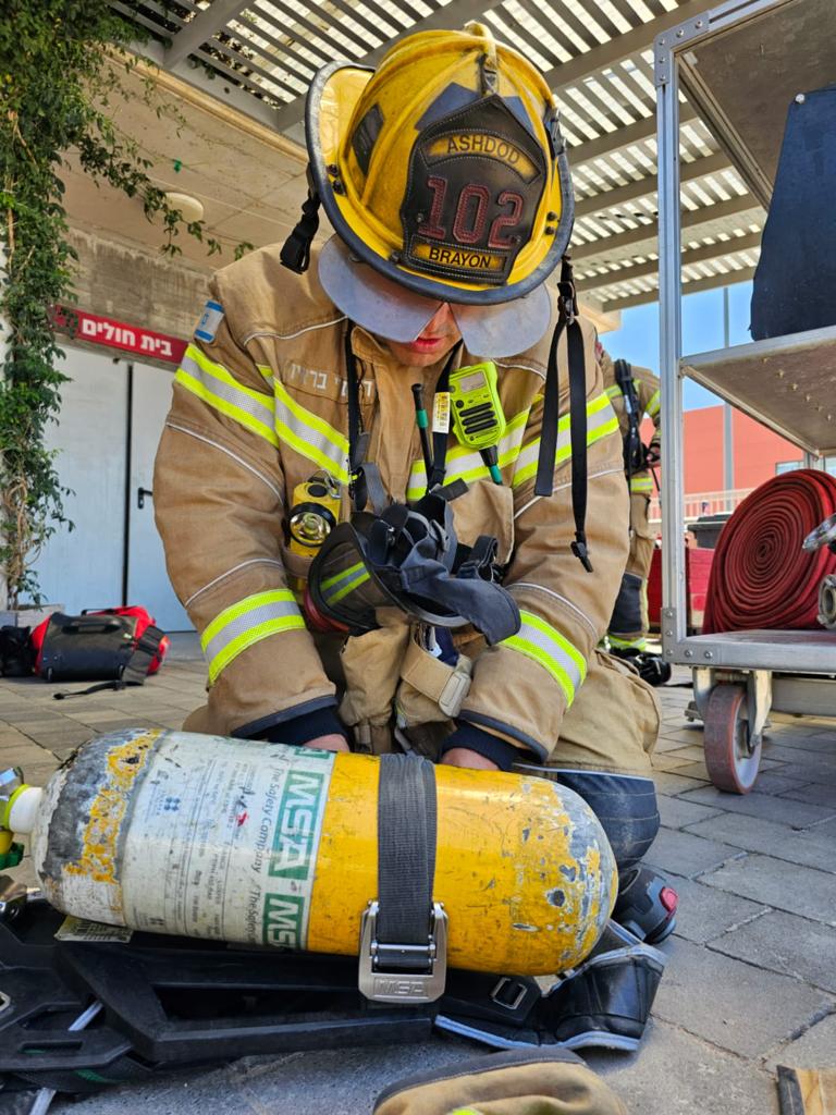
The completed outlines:
<svg viewBox="0 0 836 1115">
<path fill-rule="evenodd" d="M 568 409 L 572 443 L 572 513 L 575 520 L 575 541 L 572 553 L 587 573 L 592 572 L 586 545 L 586 361 L 584 359 L 583 330 L 577 320 L 577 302 L 572 264 L 563 256 L 557 298 L 557 326 L 552 337 L 543 394 L 543 429 L 537 457 L 537 477 L 534 493 L 551 496 L 554 493 L 554 465 L 557 455 L 557 425 L 560 421 L 560 380 L 557 372 L 557 345 L 565 330 L 568 350 Z"/>
</svg>

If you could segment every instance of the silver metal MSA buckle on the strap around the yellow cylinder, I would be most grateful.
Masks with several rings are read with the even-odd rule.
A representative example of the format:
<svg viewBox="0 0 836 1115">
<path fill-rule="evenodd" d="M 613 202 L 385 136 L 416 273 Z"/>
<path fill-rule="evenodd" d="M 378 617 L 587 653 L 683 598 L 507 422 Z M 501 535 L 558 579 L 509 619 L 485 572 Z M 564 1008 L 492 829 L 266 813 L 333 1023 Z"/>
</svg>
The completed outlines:
<svg viewBox="0 0 836 1115">
<path fill-rule="evenodd" d="M 447 914 L 432 903 L 426 944 L 383 944 L 377 939 L 377 902 L 360 930 L 360 993 L 375 1002 L 435 1002 L 447 982 Z"/>
</svg>

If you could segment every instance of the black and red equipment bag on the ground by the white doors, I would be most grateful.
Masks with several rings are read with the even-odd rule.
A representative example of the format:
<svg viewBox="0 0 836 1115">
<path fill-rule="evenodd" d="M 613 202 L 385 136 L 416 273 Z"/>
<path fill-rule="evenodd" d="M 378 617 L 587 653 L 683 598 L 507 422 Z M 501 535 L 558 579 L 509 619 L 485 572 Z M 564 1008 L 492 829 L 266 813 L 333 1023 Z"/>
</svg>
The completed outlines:
<svg viewBox="0 0 836 1115">
<path fill-rule="evenodd" d="M 50 615 L 36 672 L 47 681 L 142 685 L 164 639 L 159 628 L 137 633 L 136 615 Z"/>
</svg>

